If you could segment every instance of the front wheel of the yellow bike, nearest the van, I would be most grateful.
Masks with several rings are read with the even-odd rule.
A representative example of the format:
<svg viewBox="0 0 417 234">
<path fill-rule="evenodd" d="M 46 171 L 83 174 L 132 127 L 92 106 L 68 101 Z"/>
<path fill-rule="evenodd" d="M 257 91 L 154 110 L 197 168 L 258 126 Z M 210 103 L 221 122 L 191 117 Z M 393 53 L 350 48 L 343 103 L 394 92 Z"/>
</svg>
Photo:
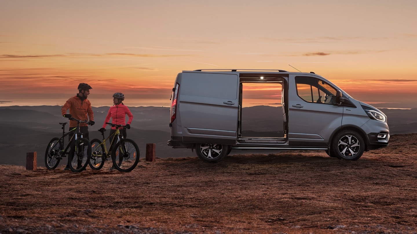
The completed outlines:
<svg viewBox="0 0 417 234">
<path fill-rule="evenodd" d="M 111 159 L 113 167 L 121 172 L 130 172 L 139 162 L 139 147 L 131 139 L 121 139 L 112 149 Z"/>
</svg>

